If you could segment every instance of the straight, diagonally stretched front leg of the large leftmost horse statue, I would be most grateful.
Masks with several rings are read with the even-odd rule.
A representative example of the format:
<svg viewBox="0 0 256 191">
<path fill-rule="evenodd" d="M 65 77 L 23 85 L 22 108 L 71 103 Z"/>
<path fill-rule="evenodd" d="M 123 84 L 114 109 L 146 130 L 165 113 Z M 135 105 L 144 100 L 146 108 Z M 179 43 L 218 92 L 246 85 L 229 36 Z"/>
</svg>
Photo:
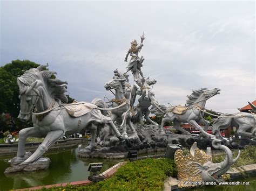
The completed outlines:
<svg viewBox="0 0 256 191">
<path fill-rule="evenodd" d="M 21 165 L 30 164 L 39 159 L 48 150 L 48 148 L 59 138 L 62 138 L 64 134 L 63 130 L 50 131 L 44 138 L 43 143 L 41 143 L 37 150 L 28 159 L 22 162 Z"/>
</svg>

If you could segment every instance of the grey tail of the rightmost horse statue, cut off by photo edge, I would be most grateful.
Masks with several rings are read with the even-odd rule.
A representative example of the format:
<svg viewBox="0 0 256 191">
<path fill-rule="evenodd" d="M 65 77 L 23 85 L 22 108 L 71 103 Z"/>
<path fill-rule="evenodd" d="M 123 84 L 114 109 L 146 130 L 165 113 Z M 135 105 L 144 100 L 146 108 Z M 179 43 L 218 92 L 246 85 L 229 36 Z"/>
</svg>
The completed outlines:
<svg viewBox="0 0 256 191">
<path fill-rule="evenodd" d="M 220 116 L 217 119 L 215 119 L 213 125 L 212 125 L 212 133 L 213 135 L 221 136 L 220 130 L 221 129 L 227 129 L 232 122 L 232 117 L 228 116 Z"/>
</svg>

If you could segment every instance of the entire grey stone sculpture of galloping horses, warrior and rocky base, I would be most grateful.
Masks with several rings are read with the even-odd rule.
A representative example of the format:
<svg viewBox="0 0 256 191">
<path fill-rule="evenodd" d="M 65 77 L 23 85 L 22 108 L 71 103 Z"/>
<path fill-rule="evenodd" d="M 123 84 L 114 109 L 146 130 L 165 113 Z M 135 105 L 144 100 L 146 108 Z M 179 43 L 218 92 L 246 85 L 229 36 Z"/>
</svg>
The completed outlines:
<svg viewBox="0 0 256 191">
<path fill-rule="evenodd" d="M 185 135 L 190 133 L 181 128 L 180 124 L 189 123 L 210 140 L 220 137 L 220 129 L 235 124 L 239 128 L 239 135 L 255 143 L 253 140 L 256 132 L 254 105 L 252 105 L 254 110 L 251 114 L 239 112 L 219 116 L 213 124 L 215 135 L 207 133 L 210 122 L 204 119 L 205 104 L 209 98 L 220 93 L 218 88 L 193 90 L 192 94 L 187 96 L 185 106 L 160 104 L 152 92 L 153 85 L 157 81 L 145 77 L 142 72 L 145 59 L 143 56 L 139 57 L 139 53 L 142 50 L 144 39 L 143 34 L 140 44 L 136 40 L 131 42 L 131 48 L 125 56 L 125 61 L 129 55 L 131 56 L 125 73 L 115 69 L 112 79 L 104 84 L 105 89 L 114 94 L 114 98 L 107 103 L 95 98 L 91 103 L 65 104 L 68 101 L 65 95 L 67 83 L 57 78 L 52 79 L 51 76 L 57 73 L 43 70 L 47 65 L 27 70 L 18 77 L 19 98 L 21 99 L 21 111 L 18 118 L 25 122 L 32 117 L 33 126 L 19 132 L 17 157 L 12 159 L 12 164 L 18 164 L 15 168 L 21 169 L 37 161 L 58 139 L 84 128 L 91 131 L 90 145 L 84 149 L 86 152 L 96 150 L 96 140 L 102 147 L 118 144 L 131 146 L 133 143 L 148 146 L 151 144 L 152 146 L 152 142 L 157 144 L 159 140 L 162 143 L 164 140 L 166 146 L 168 141 L 164 124 L 170 121 L 173 122 L 173 128 Z M 134 81 L 132 85 L 129 83 L 128 73 L 130 71 Z M 134 104 L 136 97 L 138 97 L 137 105 Z M 151 120 L 150 112 L 163 116 L 160 125 Z M 150 125 L 146 125 L 143 118 Z M 201 128 L 199 124 L 204 124 L 204 128 Z M 127 126 L 129 129 L 126 128 Z M 99 127 L 102 127 L 104 131 L 97 136 Z M 25 140 L 28 137 L 44 137 L 43 143 L 33 154 L 25 152 Z"/>
</svg>

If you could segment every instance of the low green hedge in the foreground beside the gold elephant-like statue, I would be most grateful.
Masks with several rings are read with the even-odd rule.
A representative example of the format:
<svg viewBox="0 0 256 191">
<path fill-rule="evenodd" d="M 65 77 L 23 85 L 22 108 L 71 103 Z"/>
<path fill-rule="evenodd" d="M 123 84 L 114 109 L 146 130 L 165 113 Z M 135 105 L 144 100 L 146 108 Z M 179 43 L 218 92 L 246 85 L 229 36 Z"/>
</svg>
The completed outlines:
<svg viewBox="0 0 256 191">
<path fill-rule="evenodd" d="M 177 176 L 170 159 L 144 159 L 127 162 L 111 178 L 86 186 L 55 187 L 43 190 L 163 190 L 168 176 Z"/>
</svg>

